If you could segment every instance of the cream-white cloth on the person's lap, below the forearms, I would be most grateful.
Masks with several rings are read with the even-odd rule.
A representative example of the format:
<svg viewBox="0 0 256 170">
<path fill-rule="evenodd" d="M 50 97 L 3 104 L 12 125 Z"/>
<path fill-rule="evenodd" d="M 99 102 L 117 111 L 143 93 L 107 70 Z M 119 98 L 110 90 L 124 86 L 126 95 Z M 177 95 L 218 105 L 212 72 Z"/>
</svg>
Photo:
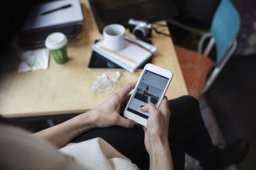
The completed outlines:
<svg viewBox="0 0 256 170">
<path fill-rule="evenodd" d="M 60 149 L 81 164 L 85 169 L 138 169 L 131 160 L 101 138 L 81 143 L 70 143 Z"/>
</svg>

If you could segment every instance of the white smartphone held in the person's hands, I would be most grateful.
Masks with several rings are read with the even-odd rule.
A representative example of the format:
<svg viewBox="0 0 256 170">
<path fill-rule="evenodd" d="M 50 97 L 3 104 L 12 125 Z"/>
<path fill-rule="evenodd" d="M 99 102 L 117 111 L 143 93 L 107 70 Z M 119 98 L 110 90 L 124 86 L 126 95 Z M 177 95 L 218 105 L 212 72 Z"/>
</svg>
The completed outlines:
<svg viewBox="0 0 256 170">
<path fill-rule="evenodd" d="M 147 127 L 148 113 L 140 110 L 140 106 L 154 103 L 158 108 L 172 80 L 172 71 L 154 64 L 147 64 L 138 80 L 134 92 L 124 110 L 124 117 Z"/>
</svg>

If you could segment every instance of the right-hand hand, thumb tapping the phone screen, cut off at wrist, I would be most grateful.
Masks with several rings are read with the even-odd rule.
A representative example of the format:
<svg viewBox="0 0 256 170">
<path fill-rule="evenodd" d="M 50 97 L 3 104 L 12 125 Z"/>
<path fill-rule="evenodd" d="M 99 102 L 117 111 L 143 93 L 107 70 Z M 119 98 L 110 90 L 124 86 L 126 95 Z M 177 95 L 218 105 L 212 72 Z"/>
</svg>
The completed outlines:
<svg viewBox="0 0 256 170">
<path fill-rule="evenodd" d="M 158 110 L 153 103 L 141 107 L 141 111 L 149 113 L 147 128 L 145 131 L 145 146 L 148 154 L 154 152 L 154 147 L 159 144 L 168 144 L 168 127 L 170 109 L 167 97 L 165 96 Z"/>
</svg>

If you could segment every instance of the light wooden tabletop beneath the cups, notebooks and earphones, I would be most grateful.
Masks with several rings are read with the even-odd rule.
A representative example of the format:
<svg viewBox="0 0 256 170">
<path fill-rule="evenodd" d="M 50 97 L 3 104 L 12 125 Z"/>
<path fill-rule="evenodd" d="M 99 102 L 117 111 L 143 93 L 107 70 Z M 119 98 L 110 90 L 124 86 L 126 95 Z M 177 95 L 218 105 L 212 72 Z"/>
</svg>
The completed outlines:
<svg viewBox="0 0 256 170">
<path fill-rule="evenodd" d="M 49 68 L 42 71 L 0 73 L 0 113 L 3 117 L 34 117 L 65 113 L 82 113 L 102 103 L 108 96 L 92 92 L 95 76 L 107 73 L 116 77 L 116 71 L 89 71 L 87 69 L 95 39 L 101 39 L 93 21 L 88 1 L 81 1 L 84 14 L 81 39 L 68 44 L 68 62 L 56 64 L 52 57 Z M 166 32 L 168 29 L 166 28 Z M 180 70 L 171 38 L 152 34 L 157 56 L 152 63 L 173 72 L 173 80 L 166 96 L 168 99 L 187 95 L 188 91 Z M 127 83 L 138 80 L 141 71 L 121 71 L 114 92 Z"/>
</svg>

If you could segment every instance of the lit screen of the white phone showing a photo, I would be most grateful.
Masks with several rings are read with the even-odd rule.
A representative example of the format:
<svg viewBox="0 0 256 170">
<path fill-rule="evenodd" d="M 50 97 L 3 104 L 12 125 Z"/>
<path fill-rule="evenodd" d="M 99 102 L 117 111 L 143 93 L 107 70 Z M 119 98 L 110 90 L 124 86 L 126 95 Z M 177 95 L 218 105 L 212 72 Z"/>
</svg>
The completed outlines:
<svg viewBox="0 0 256 170">
<path fill-rule="evenodd" d="M 148 103 L 154 103 L 157 106 L 168 80 L 169 78 L 165 76 L 145 70 L 127 110 L 140 117 L 148 118 L 148 113 L 141 111 L 140 106 L 145 106 Z"/>
</svg>

